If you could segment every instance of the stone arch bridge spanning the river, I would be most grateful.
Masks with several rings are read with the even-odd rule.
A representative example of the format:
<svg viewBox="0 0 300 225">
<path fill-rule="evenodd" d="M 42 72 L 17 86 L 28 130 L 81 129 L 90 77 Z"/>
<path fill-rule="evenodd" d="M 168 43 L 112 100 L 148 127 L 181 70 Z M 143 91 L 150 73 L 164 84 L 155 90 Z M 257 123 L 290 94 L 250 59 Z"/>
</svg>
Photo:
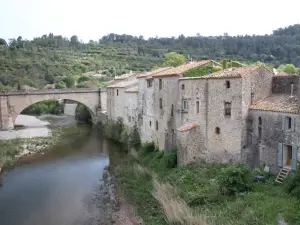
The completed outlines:
<svg viewBox="0 0 300 225">
<path fill-rule="evenodd" d="M 106 117 L 106 89 L 0 92 L 0 130 L 13 128 L 17 116 L 28 106 L 50 99 L 73 100 L 85 105 L 90 111 L 94 123 Z"/>
</svg>

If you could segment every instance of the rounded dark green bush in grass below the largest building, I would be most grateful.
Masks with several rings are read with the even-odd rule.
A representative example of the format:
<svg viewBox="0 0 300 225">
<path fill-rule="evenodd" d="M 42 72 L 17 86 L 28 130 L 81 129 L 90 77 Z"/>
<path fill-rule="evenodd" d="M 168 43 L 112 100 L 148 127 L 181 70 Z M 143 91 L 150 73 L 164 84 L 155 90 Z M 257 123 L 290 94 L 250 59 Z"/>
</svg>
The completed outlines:
<svg viewBox="0 0 300 225">
<path fill-rule="evenodd" d="M 229 165 L 221 169 L 216 181 L 223 194 L 232 195 L 251 190 L 250 174 L 250 170 L 244 164 Z"/>
</svg>

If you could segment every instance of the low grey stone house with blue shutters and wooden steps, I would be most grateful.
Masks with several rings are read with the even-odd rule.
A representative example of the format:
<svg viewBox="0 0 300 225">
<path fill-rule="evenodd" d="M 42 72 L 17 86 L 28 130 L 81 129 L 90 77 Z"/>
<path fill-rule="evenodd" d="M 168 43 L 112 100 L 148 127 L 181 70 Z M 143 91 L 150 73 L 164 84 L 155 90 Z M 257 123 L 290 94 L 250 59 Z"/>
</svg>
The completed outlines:
<svg viewBox="0 0 300 225">
<path fill-rule="evenodd" d="M 247 161 L 271 172 L 296 169 L 300 144 L 299 77 L 275 76 L 272 94 L 251 105 L 248 117 Z"/>
</svg>

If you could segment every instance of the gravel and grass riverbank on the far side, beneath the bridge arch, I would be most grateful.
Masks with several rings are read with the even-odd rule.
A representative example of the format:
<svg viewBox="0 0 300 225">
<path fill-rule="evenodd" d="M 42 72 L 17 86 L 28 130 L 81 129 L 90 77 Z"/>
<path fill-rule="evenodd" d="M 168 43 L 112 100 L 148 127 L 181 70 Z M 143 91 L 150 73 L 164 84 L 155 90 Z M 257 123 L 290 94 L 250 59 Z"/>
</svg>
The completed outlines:
<svg viewBox="0 0 300 225">
<path fill-rule="evenodd" d="M 58 127 L 51 125 L 48 122 L 49 120 L 41 121 L 33 116 L 25 117 L 26 119 L 32 119 L 28 119 L 24 126 L 30 124 L 32 127 L 10 131 L 9 135 L 6 134 L 6 131 L 2 131 L 1 133 L 3 136 L 2 140 L 0 140 L 0 168 L 2 168 L 2 172 L 12 168 L 18 161 L 26 156 L 43 154 L 45 151 L 53 149 L 56 144 L 67 141 L 74 135 L 83 135 L 90 130 L 87 127 L 85 127 L 87 128 L 85 129 L 84 126 L 80 128 L 76 126 Z M 55 119 L 59 120 L 59 118 Z M 63 124 L 65 124 L 65 122 L 63 122 Z M 51 130 L 45 127 L 45 125 L 52 127 Z M 45 132 L 39 132 L 40 130 Z M 15 136 L 16 132 L 20 131 L 22 134 L 24 133 L 24 135 L 18 133 L 20 136 Z"/>
</svg>

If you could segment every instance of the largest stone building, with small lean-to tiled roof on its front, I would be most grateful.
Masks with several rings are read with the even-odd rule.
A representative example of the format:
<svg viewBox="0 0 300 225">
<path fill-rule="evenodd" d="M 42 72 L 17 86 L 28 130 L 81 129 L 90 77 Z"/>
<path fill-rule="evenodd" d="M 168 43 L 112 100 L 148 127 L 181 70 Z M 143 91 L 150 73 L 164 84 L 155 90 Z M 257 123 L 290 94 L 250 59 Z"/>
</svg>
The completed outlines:
<svg viewBox="0 0 300 225">
<path fill-rule="evenodd" d="M 179 163 L 244 160 L 249 108 L 270 95 L 272 77 L 267 68 L 252 66 L 180 78 L 176 119 Z M 192 136 L 193 143 L 187 139 Z"/>
</svg>

